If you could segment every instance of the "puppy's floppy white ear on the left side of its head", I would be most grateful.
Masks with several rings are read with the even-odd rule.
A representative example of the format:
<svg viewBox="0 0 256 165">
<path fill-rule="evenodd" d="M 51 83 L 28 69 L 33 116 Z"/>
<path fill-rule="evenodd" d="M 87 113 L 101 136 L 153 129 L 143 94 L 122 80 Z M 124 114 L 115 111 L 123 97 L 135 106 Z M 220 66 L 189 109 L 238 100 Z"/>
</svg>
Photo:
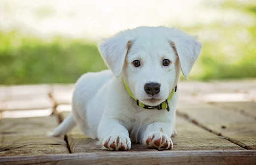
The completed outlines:
<svg viewBox="0 0 256 165">
<path fill-rule="evenodd" d="M 105 63 L 114 73 L 115 77 L 119 77 L 132 41 L 124 32 L 117 34 L 112 38 L 105 39 L 98 48 Z"/>
</svg>

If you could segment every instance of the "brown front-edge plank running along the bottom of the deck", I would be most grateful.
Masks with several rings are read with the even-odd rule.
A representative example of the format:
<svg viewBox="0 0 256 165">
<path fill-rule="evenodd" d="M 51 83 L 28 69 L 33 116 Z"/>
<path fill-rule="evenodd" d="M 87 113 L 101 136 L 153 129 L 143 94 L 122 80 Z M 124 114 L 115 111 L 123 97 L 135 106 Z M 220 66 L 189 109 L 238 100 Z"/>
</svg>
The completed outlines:
<svg viewBox="0 0 256 165">
<path fill-rule="evenodd" d="M 0 157 L 4 165 L 255 165 L 256 151 L 105 152 Z"/>
</svg>

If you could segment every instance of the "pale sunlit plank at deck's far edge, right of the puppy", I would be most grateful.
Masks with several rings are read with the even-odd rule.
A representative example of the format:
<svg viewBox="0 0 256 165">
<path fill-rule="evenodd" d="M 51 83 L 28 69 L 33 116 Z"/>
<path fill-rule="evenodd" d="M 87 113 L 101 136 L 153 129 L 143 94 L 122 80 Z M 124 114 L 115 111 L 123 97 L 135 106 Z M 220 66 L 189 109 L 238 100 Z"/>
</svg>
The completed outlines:
<svg viewBox="0 0 256 165">
<path fill-rule="evenodd" d="M 256 79 L 210 82 L 181 81 L 179 102 L 237 102 L 254 101 Z M 188 99 L 192 96 L 190 99 Z"/>
</svg>

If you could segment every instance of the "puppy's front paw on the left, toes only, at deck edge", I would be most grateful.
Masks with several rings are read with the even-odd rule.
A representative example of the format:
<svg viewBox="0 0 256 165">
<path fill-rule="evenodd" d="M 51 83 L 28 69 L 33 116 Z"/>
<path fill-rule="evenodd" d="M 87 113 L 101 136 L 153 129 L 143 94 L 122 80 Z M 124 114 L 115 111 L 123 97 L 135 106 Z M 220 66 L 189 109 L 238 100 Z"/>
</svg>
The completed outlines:
<svg viewBox="0 0 256 165">
<path fill-rule="evenodd" d="M 131 141 L 125 134 L 114 134 L 104 138 L 103 146 L 108 150 L 129 150 L 131 148 Z"/>
</svg>

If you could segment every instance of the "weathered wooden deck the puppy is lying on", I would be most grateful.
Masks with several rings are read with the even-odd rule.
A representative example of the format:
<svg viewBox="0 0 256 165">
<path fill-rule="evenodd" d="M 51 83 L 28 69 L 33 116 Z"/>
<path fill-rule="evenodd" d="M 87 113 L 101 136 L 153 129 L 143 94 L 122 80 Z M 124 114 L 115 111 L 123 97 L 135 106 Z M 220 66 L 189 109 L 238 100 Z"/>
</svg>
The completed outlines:
<svg viewBox="0 0 256 165">
<path fill-rule="evenodd" d="M 0 164 L 256 165 L 256 79 L 180 82 L 168 151 L 106 151 L 77 127 L 48 137 L 70 113 L 73 87 L 0 86 Z"/>
</svg>

